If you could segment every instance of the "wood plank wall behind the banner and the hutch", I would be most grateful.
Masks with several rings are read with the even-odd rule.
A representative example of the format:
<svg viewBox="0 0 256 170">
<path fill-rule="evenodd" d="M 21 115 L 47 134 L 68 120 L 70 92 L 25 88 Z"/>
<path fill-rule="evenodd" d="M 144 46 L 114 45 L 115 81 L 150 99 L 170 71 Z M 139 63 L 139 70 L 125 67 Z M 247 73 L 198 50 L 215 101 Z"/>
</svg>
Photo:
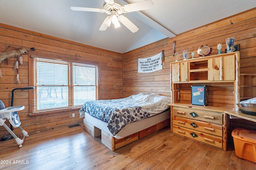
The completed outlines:
<svg viewBox="0 0 256 170">
<path fill-rule="evenodd" d="M 146 45 L 139 49 L 129 51 L 123 55 L 123 84 L 124 84 L 124 97 L 131 94 L 138 94 L 140 92 L 146 93 L 158 93 L 165 96 L 170 96 L 170 64 L 169 62 L 175 61 L 173 57 L 172 42 L 175 41 L 176 49 L 178 52 L 178 60 L 182 60 L 182 50 L 188 49 L 188 58 L 191 58 L 191 52 L 195 52 L 195 57 L 198 57 L 197 50 L 201 45 L 207 45 L 212 47 L 212 54 L 217 54 L 217 45 L 222 44 L 222 53 L 226 48 L 225 39 L 228 37 L 235 37 L 235 44 L 240 44 L 240 72 L 241 73 L 256 73 L 256 8 L 242 12 L 235 16 L 231 16 L 208 25 L 187 31 L 179 34 L 173 38 L 166 38 L 158 42 Z M 137 59 L 147 58 L 156 55 L 164 50 L 165 65 L 163 70 L 159 70 L 152 73 L 138 73 L 137 72 Z M 255 79 L 255 76 L 254 76 Z M 251 81 L 255 83 L 256 81 Z M 254 84 L 255 86 L 256 84 Z M 184 87 L 186 89 L 186 87 Z M 218 86 L 211 88 L 218 89 Z M 220 90 L 230 91 L 230 89 Z M 254 97 L 256 97 L 255 90 Z M 225 92 L 226 98 L 229 101 L 227 105 L 232 106 L 233 93 Z M 243 95 L 243 94 L 242 94 Z M 183 97 L 184 96 L 184 97 Z M 221 106 L 223 104 L 223 98 L 212 99 L 209 102 L 220 101 Z M 190 94 L 189 94 L 190 97 Z M 183 100 L 188 100 L 188 94 L 184 90 L 184 94 L 181 94 Z M 220 100 L 222 99 L 222 100 Z M 221 103 L 222 101 L 222 103 Z"/>
</svg>

